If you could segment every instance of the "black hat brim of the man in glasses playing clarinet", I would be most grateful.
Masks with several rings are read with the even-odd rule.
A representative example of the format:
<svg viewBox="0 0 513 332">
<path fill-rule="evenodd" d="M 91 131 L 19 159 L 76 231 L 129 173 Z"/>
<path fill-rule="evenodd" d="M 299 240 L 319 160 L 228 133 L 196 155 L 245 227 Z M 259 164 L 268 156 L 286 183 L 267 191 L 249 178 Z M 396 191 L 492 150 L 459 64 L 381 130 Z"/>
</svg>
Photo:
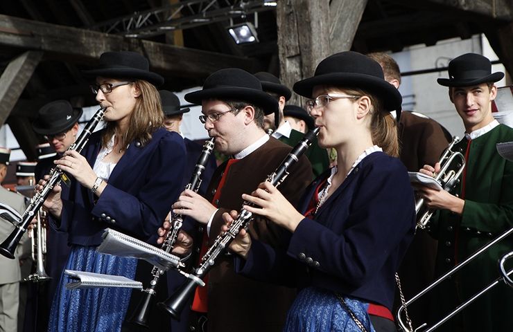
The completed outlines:
<svg viewBox="0 0 513 332">
<path fill-rule="evenodd" d="M 277 100 L 266 92 L 232 86 L 194 91 L 187 93 L 184 98 L 186 101 L 198 105 L 200 105 L 203 100 L 209 99 L 229 99 L 250 102 L 261 107 L 266 116 L 275 113 L 275 111 L 279 109 Z"/>
</svg>

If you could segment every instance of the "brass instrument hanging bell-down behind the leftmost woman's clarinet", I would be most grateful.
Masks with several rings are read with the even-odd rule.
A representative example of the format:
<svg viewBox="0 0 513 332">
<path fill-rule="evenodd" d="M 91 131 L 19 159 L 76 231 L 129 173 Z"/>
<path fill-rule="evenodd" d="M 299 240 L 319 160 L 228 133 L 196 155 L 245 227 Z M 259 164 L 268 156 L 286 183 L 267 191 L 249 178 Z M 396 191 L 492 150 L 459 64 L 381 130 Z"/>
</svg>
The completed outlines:
<svg viewBox="0 0 513 332">
<path fill-rule="evenodd" d="M 32 260 L 35 261 L 35 271 L 25 281 L 45 282 L 51 277 L 44 270 L 44 255 L 46 255 L 46 211 L 44 209 L 37 211 L 37 225 L 29 230 L 29 236 L 32 243 Z"/>
</svg>

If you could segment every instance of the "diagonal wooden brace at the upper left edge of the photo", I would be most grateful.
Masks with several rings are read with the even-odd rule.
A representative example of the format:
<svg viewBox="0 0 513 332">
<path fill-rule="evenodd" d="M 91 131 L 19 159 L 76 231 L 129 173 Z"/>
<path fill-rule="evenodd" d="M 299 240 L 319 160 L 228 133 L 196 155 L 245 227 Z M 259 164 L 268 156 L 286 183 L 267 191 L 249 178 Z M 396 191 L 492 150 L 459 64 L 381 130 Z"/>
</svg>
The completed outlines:
<svg viewBox="0 0 513 332">
<path fill-rule="evenodd" d="M 43 53 L 27 51 L 8 64 L 0 77 L 0 125 L 4 124 L 31 79 Z"/>
</svg>

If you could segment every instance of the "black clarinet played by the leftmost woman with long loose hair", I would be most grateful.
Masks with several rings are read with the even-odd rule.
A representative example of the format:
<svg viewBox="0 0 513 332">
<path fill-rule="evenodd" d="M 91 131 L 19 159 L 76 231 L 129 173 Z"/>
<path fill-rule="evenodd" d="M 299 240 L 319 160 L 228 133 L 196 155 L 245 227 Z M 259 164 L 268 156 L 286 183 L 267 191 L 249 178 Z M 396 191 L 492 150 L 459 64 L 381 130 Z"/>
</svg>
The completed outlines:
<svg viewBox="0 0 513 332">
<path fill-rule="evenodd" d="M 94 131 L 94 128 L 96 128 L 98 122 L 100 122 L 103 119 L 104 115 L 105 109 L 98 109 L 98 111 L 94 113 L 92 119 L 89 120 L 89 122 L 87 122 L 84 130 L 82 131 L 82 133 L 80 133 L 80 136 L 78 136 L 77 140 L 73 143 L 73 145 L 71 145 L 68 148 L 68 150 L 77 151 L 78 153 L 80 153 L 80 151 L 82 151 L 87 141 L 89 140 L 89 136 L 91 136 L 91 133 Z M 30 225 L 34 216 L 37 214 L 37 212 L 39 212 L 39 210 L 43 206 L 44 201 L 50 195 L 53 187 L 55 187 L 55 185 L 59 185 L 60 181 L 64 181 L 64 183 L 66 183 L 67 185 L 71 183 L 69 177 L 66 174 L 64 174 L 64 172 L 62 172 L 61 169 L 59 169 L 58 167 L 53 167 L 50 171 L 50 178 L 48 179 L 48 181 L 46 181 L 46 184 L 43 186 L 42 190 L 40 192 L 37 192 L 33 196 L 25 212 L 21 214 L 21 220 L 19 221 L 19 223 L 15 224 L 15 230 L 13 230 L 11 234 L 7 237 L 7 239 L 0 244 L 1 255 L 10 259 L 15 258 L 16 247 L 18 246 L 21 237 L 23 237 L 23 234 L 26 232 L 28 225 Z"/>
</svg>

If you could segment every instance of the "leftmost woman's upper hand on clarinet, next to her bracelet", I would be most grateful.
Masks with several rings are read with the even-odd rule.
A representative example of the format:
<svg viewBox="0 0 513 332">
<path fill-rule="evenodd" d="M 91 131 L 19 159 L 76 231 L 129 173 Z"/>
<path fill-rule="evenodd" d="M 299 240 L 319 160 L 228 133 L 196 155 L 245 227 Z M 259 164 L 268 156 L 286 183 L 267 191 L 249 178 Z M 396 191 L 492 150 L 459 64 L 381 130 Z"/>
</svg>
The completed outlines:
<svg viewBox="0 0 513 332">
<path fill-rule="evenodd" d="M 96 173 L 94 173 L 91 165 L 87 163 L 84 156 L 77 151 L 68 150 L 62 155 L 62 158 L 55 160 L 53 163 L 64 172 L 78 181 L 82 186 L 91 189 L 96 181 Z"/>
</svg>

